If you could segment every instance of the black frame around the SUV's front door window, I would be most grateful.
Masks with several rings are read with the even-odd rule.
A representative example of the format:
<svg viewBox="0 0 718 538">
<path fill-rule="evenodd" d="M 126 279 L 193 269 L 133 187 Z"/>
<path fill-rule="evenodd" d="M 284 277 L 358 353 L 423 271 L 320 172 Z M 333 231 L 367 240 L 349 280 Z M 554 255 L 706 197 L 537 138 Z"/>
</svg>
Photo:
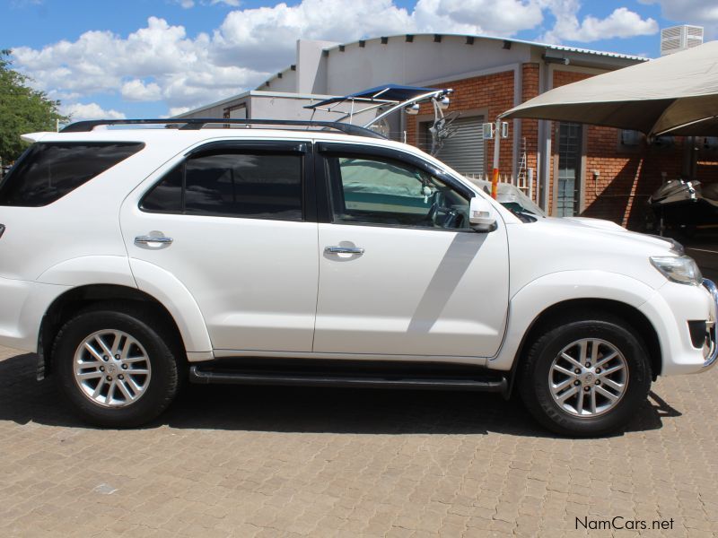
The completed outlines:
<svg viewBox="0 0 718 538">
<path fill-rule="evenodd" d="M 471 198 L 477 194 L 469 187 L 461 184 L 450 174 L 433 165 L 433 163 L 425 161 L 412 153 L 402 152 L 394 148 L 364 146 L 362 144 L 354 143 L 317 143 L 315 145 L 317 158 L 315 159 L 314 174 L 316 176 L 317 210 L 318 220 L 320 222 L 346 226 L 372 226 L 373 228 L 391 228 L 401 230 L 448 231 L 453 233 L 474 232 L 474 230 L 470 227 L 445 229 L 430 228 L 427 226 L 408 226 L 405 224 L 388 224 L 385 222 L 335 221 L 331 204 L 332 178 L 329 172 L 330 161 L 328 160 L 328 157 L 346 157 L 366 160 L 373 159 L 376 161 L 389 162 L 395 166 L 419 169 L 420 171 L 441 180 L 447 187 L 451 187 L 457 191 L 460 195 L 467 199 L 468 204 L 471 203 Z"/>
</svg>

